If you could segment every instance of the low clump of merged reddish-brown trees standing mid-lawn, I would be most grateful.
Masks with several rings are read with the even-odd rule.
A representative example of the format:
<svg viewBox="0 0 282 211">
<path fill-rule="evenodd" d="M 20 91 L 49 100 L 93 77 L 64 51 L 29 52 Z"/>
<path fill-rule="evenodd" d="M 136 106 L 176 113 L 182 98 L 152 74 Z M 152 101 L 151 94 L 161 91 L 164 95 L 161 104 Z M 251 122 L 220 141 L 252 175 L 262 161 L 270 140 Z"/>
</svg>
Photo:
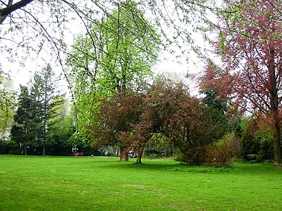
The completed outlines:
<svg viewBox="0 0 282 211">
<path fill-rule="evenodd" d="M 226 132 L 220 112 L 191 97 L 182 83 L 169 80 L 155 82 L 147 93 L 119 93 L 100 100 L 93 114 L 85 136 L 96 146 L 120 146 L 122 161 L 133 150 L 141 163 L 149 140 L 158 133 L 180 148 L 184 162 L 203 164 L 206 146 Z"/>
</svg>

